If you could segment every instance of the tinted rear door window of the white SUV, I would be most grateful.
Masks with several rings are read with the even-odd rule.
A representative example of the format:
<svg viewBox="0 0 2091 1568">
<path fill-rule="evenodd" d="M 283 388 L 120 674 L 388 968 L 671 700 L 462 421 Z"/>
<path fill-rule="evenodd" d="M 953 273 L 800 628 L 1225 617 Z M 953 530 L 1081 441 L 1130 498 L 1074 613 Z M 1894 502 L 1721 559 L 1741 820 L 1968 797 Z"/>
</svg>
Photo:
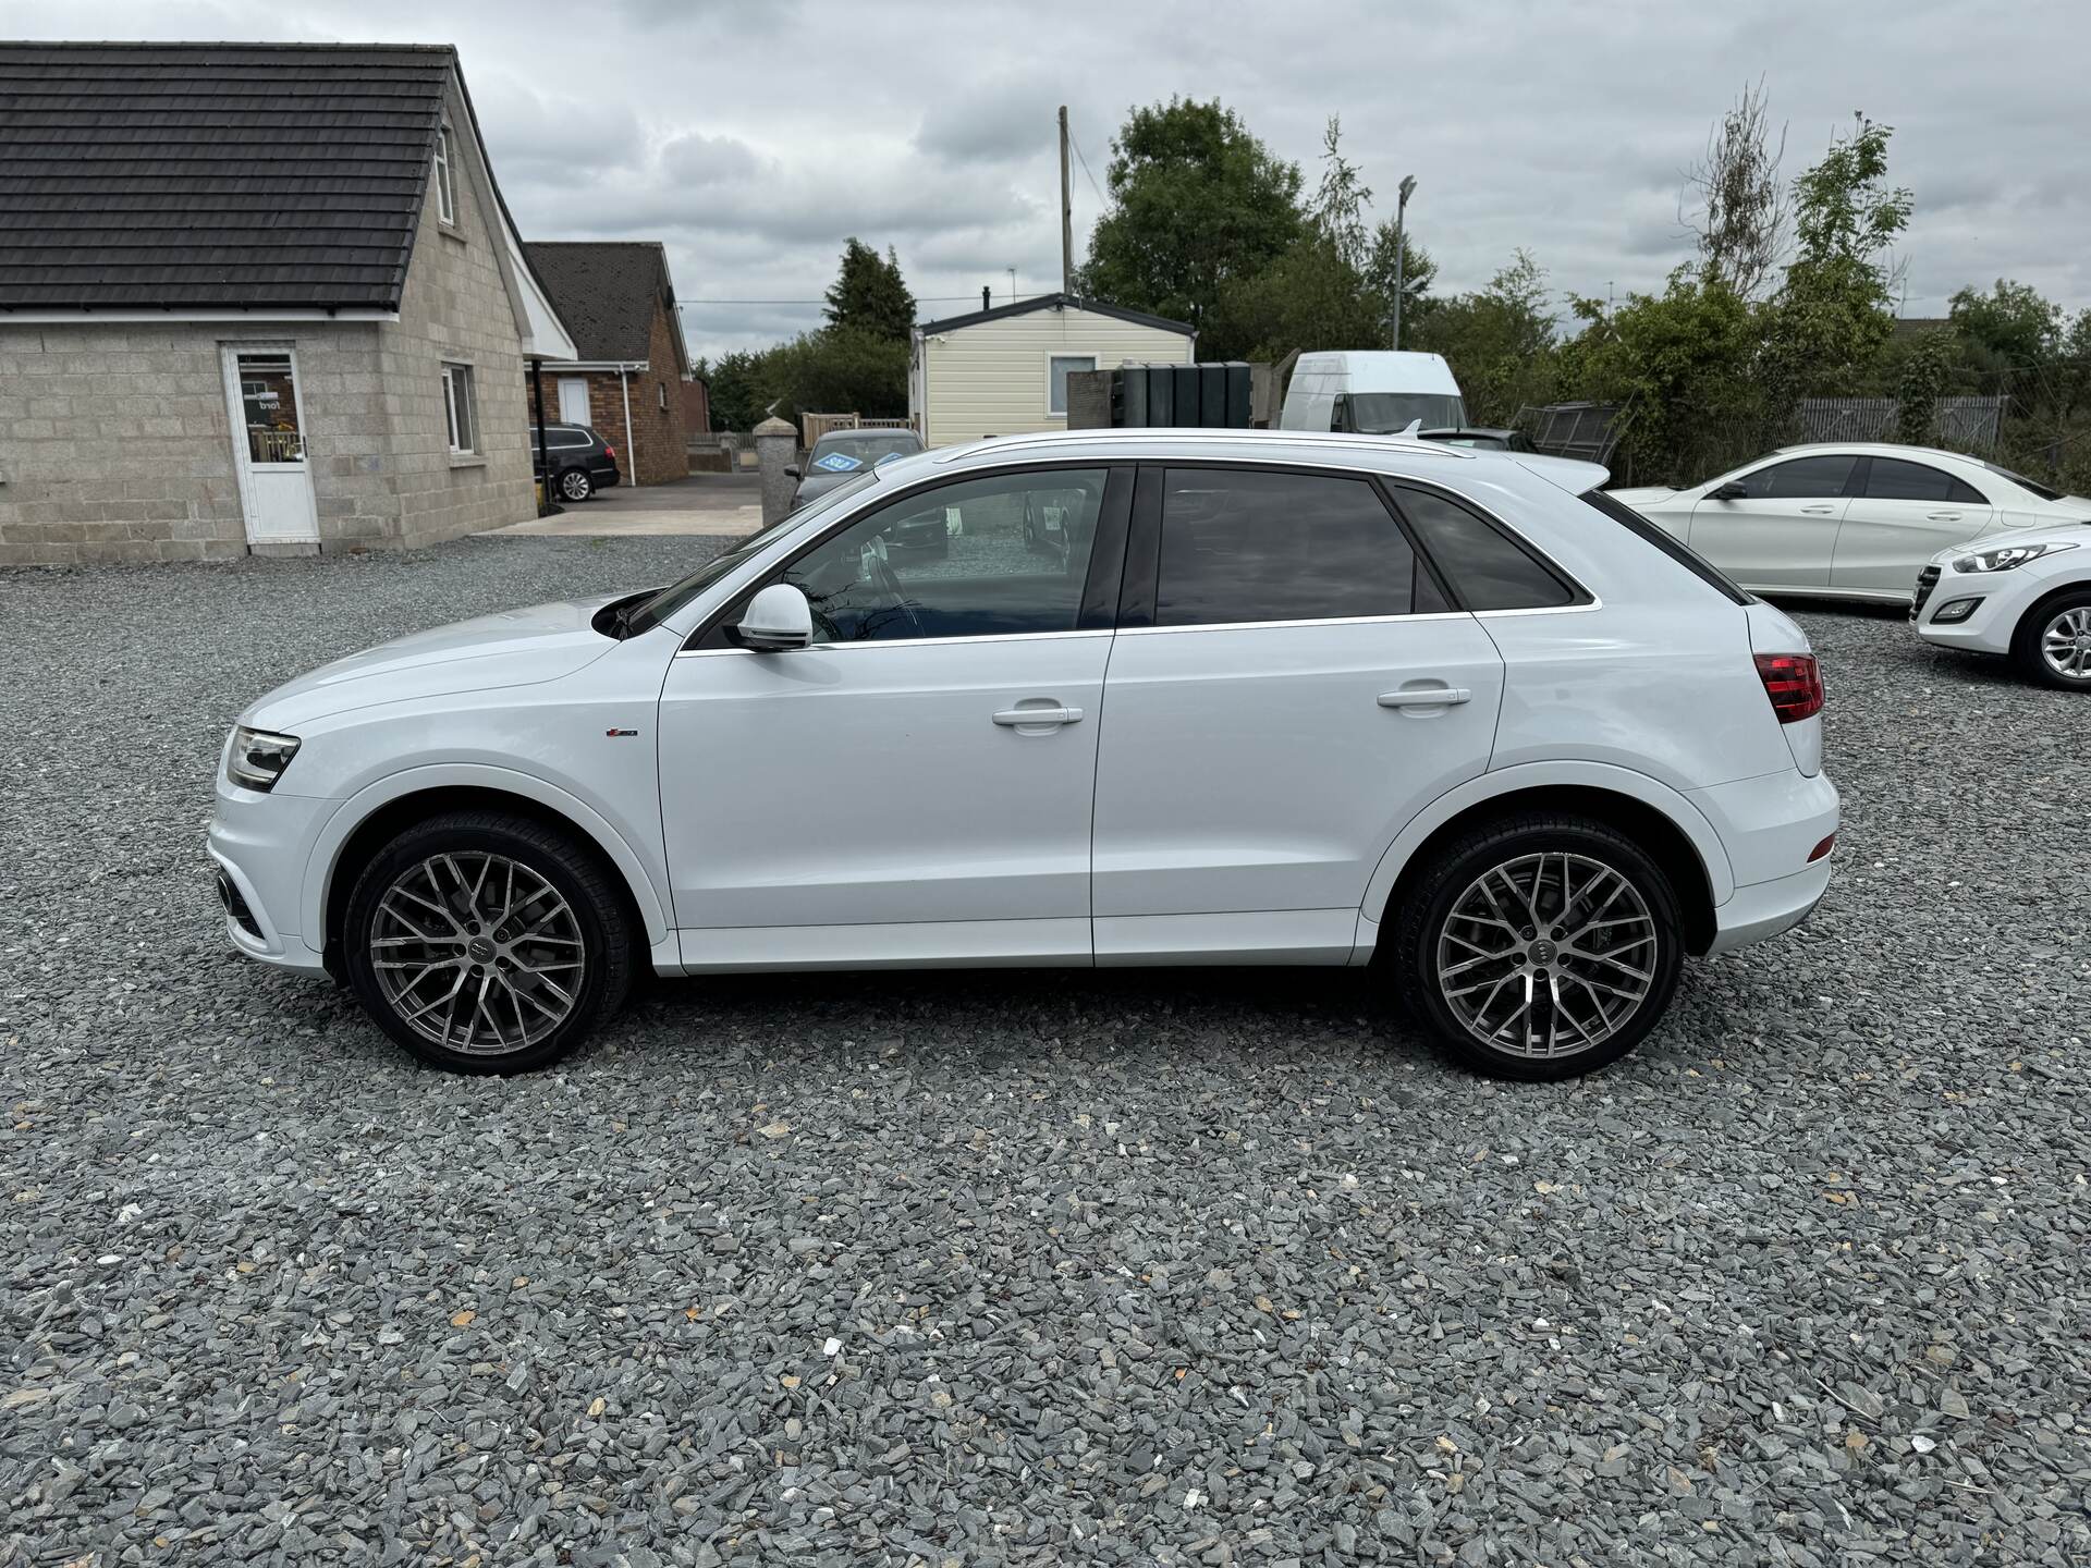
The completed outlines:
<svg viewBox="0 0 2091 1568">
<path fill-rule="evenodd" d="M 1171 468 L 1154 625 L 1332 621 L 1445 608 L 1363 479 Z"/>
</svg>

